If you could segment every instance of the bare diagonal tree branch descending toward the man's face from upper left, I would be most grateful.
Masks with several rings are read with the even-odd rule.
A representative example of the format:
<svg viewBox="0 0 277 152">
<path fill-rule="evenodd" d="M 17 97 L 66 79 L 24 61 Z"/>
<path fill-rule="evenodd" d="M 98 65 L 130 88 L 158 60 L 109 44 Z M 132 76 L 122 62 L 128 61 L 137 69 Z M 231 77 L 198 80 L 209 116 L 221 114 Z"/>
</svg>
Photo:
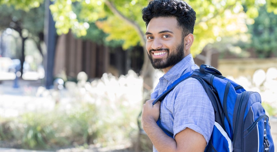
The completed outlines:
<svg viewBox="0 0 277 152">
<path fill-rule="evenodd" d="M 120 12 L 118 11 L 118 9 L 116 9 L 116 7 L 115 7 L 115 6 L 112 4 L 112 2 L 110 2 L 109 0 L 106 0 L 106 1 L 105 1 L 105 4 L 109 7 L 109 9 L 110 9 L 115 15 L 117 15 L 118 17 L 120 17 L 121 19 L 123 19 L 124 21 L 126 21 L 128 24 L 134 26 L 136 32 L 138 33 L 138 35 L 139 35 L 139 37 L 140 37 L 141 43 L 143 44 L 143 46 L 145 46 L 145 44 L 146 44 L 146 39 L 145 39 L 144 33 L 141 31 L 140 26 L 139 26 L 135 21 L 132 21 L 132 20 L 128 19 L 126 16 L 124 16 L 122 13 L 120 13 Z"/>
</svg>

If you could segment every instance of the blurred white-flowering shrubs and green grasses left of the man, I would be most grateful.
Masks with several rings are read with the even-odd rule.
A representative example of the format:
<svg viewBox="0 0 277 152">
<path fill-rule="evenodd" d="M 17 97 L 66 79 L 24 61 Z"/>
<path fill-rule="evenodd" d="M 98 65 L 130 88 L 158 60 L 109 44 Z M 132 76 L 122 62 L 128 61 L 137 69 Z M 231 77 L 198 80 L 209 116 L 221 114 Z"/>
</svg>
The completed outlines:
<svg viewBox="0 0 277 152">
<path fill-rule="evenodd" d="M 25 149 L 130 143 L 138 133 L 142 78 L 129 71 L 120 78 L 103 74 L 89 83 L 81 74 L 77 84 L 66 82 L 65 90 L 45 90 L 52 94 L 54 108 L 0 119 L 0 139 L 16 140 Z"/>
</svg>

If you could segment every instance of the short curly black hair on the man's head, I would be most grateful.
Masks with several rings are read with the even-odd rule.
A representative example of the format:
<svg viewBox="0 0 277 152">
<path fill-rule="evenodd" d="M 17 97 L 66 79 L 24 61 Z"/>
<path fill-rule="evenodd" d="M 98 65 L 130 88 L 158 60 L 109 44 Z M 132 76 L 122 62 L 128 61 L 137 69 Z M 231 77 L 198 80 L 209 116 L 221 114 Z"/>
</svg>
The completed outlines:
<svg viewBox="0 0 277 152">
<path fill-rule="evenodd" d="M 183 36 L 193 33 L 196 13 L 188 3 L 182 0 L 154 0 L 142 9 L 142 18 L 146 27 L 154 17 L 176 17 Z"/>
</svg>

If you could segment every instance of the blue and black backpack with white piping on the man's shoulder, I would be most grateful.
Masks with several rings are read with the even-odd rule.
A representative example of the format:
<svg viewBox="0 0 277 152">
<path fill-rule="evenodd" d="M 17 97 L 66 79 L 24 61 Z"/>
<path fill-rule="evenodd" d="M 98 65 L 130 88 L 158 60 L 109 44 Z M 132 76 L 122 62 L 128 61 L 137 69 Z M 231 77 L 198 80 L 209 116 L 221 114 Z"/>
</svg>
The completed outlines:
<svg viewBox="0 0 277 152">
<path fill-rule="evenodd" d="M 214 108 L 214 128 L 205 151 L 217 152 L 274 152 L 269 118 L 261 104 L 258 92 L 246 91 L 242 86 L 222 76 L 214 67 L 202 64 L 200 69 L 188 72 L 167 87 L 153 105 L 180 82 L 195 78 L 203 85 Z M 170 137 L 160 122 L 159 127 Z"/>
</svg>

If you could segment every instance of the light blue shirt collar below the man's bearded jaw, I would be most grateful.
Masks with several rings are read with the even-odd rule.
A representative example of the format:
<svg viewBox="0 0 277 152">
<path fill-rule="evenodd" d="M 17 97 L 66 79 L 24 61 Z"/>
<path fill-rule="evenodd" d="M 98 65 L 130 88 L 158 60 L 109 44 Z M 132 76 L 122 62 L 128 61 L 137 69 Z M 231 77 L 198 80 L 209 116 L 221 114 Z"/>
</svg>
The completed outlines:
<svg viewBox="0 0 277 152">
<path fill-rule="evenodd" d="M 165 75 L 163 75 L 163 78 L 173 83 L 175 80 L 180 78 L 184 73 L 184 71 L 192 64 L 194 64 L 194 60 L 193 60 L 192 54 L 189 54 L 185 58 L 183 58 L 180 62 L 175 64 L 171 69 L 169 69 L 169 71 Z"/>
</svg>

